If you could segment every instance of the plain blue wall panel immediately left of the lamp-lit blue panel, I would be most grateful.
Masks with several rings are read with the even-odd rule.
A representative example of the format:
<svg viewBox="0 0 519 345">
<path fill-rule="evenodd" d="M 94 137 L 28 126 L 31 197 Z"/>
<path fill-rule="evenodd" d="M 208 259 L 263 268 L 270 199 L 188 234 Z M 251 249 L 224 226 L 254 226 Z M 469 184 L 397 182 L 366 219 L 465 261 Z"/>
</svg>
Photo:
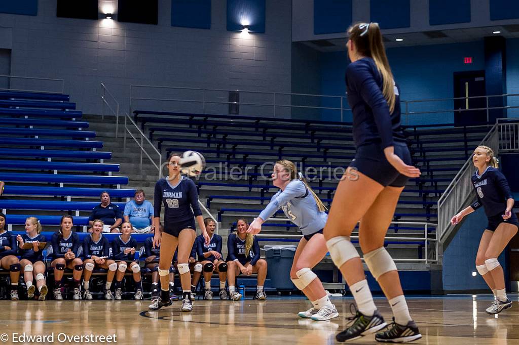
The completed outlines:
<svg viewBox="0 0 519 345">
<path fill-rule="evenodd" d="M 171 26 L 211 28 L 211 0 L 171 0 Z"/>
</svg>

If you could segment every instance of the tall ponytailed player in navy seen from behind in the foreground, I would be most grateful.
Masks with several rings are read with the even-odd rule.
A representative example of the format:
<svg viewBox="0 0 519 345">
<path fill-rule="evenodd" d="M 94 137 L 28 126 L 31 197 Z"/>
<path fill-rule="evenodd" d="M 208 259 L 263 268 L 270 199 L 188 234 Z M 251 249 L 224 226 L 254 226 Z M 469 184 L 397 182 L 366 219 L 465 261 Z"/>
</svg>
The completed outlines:
<svg viewBox="0 0 519 345">
<path fill-rule="evenodd" d="M 378 312 L 357 249 L 350 241 L 360 220 L 359 240 L 364 260 L 378 281 L 394 315 L 377 341 L 408 342 L 421 338 L 409 316 L 397 266 L 384 248 L 384 237 L 409 177 L 420 176 L 400 126 L 399 88 L 393 80 L 377 23 L 348 28 L 346 69 L 348 103 L 353 114 L 355 159 L 339 182 L 324 227 L 332 260 L 340 268 L 357 302 L 351 325 L 336 338 L 357 339 L 387 324 Z"/>
</svg>

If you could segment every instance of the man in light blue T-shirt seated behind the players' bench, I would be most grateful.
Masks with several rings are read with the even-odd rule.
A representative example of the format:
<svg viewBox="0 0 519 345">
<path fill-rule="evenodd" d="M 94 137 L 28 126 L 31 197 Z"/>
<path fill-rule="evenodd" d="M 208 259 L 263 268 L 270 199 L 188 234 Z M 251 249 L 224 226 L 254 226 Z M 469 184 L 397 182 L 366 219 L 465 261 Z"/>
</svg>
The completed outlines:
<svg viewBox="0 0 519 345">
<path fill-rule="evenodd" d="M 123 217 L 130 222 L 134 233 L 147 234 L 152 230 L 153 205 L 144 199 L 144 191 L 135 191 L 135 197 L 126 203 Z"/>
</svg>

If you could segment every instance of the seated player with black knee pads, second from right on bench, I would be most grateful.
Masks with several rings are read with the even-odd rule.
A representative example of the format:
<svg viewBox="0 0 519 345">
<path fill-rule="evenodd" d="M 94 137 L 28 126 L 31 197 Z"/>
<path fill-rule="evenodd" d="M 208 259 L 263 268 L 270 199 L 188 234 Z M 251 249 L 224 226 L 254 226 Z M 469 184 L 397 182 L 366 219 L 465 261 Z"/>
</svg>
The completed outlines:
<svg viewBox="0 0 519 345">
<path fill-rule="evenodd" d="M 203 220 L 206 224 L 207 234 L 209 235 L 209 245 L 204 243 L 202 235 L 197 236 L 195 240 L 195 248 L 198 254 L 198 261 L 203 267 L 203 279 L 205 281 L 206 292 L 203 299 L 213 299 L 213 292 L 211 291 L 211 276 L 213 272 L 218 274 L 220 278 L 220 292 L 218 295 L 221 300 L 226 300 L 229 297 L 225 291 L 225 279 L 227 278 L 227 264 L 223 260 L 222 255 L 222 236 L 214 234 L 216 224 L 211 218 Z"/>
</svg>

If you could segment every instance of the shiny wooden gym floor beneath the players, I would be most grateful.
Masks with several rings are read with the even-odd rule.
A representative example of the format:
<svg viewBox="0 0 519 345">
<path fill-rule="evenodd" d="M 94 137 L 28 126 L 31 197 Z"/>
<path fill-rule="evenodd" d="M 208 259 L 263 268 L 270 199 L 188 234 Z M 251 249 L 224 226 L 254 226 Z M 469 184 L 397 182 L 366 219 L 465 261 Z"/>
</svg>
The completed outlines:
<svg viewBox="0 0 519 345">
<path fill-rule="evenodd" d="M 423 336 L 415 343 L 519 344 L 518 297 L 511 298 L 514 301 L 511 309 L 491 316 L 485 313 L 491 302 L 489 295 L 411 296 L 407 299 L 409 309 Z M 20 335 L 52 334 L 54 343 L 60 343 L 64 335 L 115 334 L 118 344 L 333 344 L 337 343 L 334 335 L 347 323 L 345 317 L 350 315 L 351 302 L 351 298 L 333 299 L 339 318 L 316 322 L 297 317 L 296 312 L 309 308 L 303 298 L 271 297 L 261 302 L 197 300 L 193 313 L 179 312 L 180 301 L 163 310 L 147 311 L 149 300 L 3 300 L 0 301 L 0 344 L 23 343 Z M 386 321 L 390 321 L 391 309 L 386 300 L 376 298 L 375 303 Z M 64 335 L 58 339 L 60 333 Z M 25 343 L 42 343 L 38 340 Z M 353 343 L 375 341 L 368 336 Z"/>
</svg>

